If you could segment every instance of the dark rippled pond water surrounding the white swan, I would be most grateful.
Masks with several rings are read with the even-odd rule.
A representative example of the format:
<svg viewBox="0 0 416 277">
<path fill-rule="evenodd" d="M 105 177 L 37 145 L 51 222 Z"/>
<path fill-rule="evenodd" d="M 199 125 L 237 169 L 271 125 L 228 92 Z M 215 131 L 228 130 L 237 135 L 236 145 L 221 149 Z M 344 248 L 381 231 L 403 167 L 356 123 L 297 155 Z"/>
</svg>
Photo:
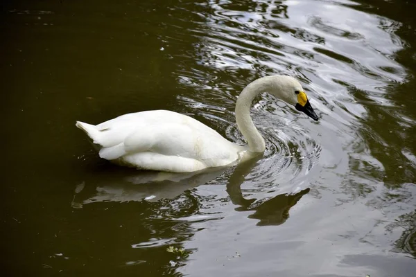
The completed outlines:
<svg viewBox="0 0 416 277">
<path fill-rule="evenodd" d="M 415 276 L 416 4 L 144 2 L 1 4 L 2 276 Z M 125 170 L 74 126 L 171 109 L 243 143 L 276 73 L 321 120 L 259 97 L 236 168 Z"/>
</svg>

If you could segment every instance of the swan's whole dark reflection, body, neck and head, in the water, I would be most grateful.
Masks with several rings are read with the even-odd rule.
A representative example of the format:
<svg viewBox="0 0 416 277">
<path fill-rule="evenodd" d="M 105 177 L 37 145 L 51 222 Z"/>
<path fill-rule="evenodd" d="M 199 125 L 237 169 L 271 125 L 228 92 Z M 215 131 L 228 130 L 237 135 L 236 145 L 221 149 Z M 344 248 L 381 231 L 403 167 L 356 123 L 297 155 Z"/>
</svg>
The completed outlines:
<svg viewBox="0 0 416 277">
<path fill-rule="evenodd" d="M 309 192 L 309 188 L 295 195 L 277 195 L 258 203 L 254 203 L 257 199 L 245 199 L 240 186 L 261 157 L 262 155 L 259 155 L 236 166 L 227 182 L 227 193 L 232 203 L 239 206 L 236 211 L 255 211 L 249 218 L 260 220 L 257 225 L 283 224 L 288 218 L 289 209 Z M 128 202 L 143 199 L 157 202 L 162 198 L 173 199 L 185 190 L 216 179 L 229 168 L 210 168 L 190 173 L 137 172 L 121 168 L 115 170 L 114 172 L 106 169 L 98 174 L 95 172 L 91 178 L 94 186 L 84 188 L 85 182 L 78 185 L 71 202 L 73 208 L 82 208 L 84 204 L 95 202 Z"/>
</svg>

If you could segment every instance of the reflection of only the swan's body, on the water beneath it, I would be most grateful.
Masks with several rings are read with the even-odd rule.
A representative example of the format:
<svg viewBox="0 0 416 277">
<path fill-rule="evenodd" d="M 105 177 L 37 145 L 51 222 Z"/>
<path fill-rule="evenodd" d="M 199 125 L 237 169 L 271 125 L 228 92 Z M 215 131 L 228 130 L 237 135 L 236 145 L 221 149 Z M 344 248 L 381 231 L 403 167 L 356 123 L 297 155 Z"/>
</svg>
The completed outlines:
<svg viewBox="0 0 416 277">
<path fill-rule="evenodd" d="M 143 199 L 157 202 L 163 198 L 173 199 L 185 190 L 215 179 L 227 169 L 209 168 L 189 173 L 137 171 L 124 168 L 102 172 L 100 170 L 94 172 L 87 181 L 78 184 L 71 206 L 82 208 L 84 204 L 95 202 L 129 202 Z"/>
</svg>

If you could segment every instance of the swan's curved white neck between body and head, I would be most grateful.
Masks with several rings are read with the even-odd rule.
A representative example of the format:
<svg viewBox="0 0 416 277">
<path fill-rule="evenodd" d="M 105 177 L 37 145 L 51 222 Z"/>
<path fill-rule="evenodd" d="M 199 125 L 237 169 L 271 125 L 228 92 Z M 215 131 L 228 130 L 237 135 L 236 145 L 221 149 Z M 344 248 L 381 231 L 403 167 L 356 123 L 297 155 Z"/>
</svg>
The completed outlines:
<svg viewBox="0 0 416 277">
<path fill-rule="evenodd" d="M 236 102 L 236 121 L 241 134 L 248 141 L 250 152 L 264 152 L 266 143 L 263 137 L 254 126 L 250 116 L 250 107 L 254 98 L 259 94 L 273 89 L 271 78 L 265 77 L 248 84 Z"/>
</svg>

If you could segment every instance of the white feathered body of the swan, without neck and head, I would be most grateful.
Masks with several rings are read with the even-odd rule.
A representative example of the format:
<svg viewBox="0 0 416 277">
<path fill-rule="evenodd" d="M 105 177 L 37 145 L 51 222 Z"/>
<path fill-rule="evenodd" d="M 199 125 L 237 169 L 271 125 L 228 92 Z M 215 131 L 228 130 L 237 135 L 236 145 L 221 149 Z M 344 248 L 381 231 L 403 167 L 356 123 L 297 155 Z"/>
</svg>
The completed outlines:
<svg viewBox="0 0 416 277">
<path fill-rule="evenodd" d="M 137 168 L 192 172 L 225 166 L 244 151 L 214 129 L 174 111 L 141 111 L 96 126 L 77 126 L 101 145 L 101 158 Z"/>
</svg>

